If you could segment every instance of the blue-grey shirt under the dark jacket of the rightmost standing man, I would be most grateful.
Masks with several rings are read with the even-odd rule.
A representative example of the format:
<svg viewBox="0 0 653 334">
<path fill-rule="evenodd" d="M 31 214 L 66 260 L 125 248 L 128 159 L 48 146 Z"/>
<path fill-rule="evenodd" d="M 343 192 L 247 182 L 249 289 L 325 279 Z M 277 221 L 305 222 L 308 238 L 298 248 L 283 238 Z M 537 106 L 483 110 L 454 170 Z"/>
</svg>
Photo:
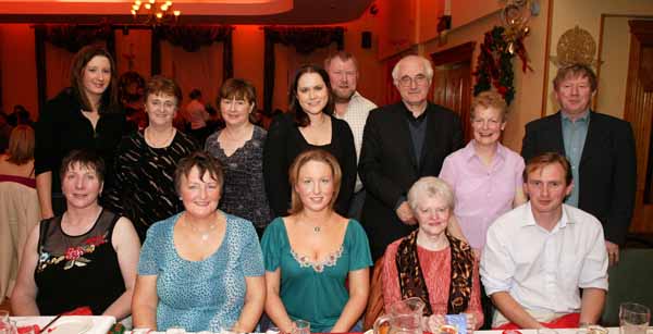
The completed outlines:
<svg viewBox="0 0 653 334">
<path fill-rule="evenodd" d="M 575 122 L 571 121 L 566 113 L 563 112 L 562 114 L 565 153 L 571 164 L 571 176 L 574 176 L 575 184 L 571 194 L 569 194 L 569 197 L 567 197 L 565 202 L 569 206 L 578 207 L 578 194 L 580 191 L 580 158 L 582 157 L 582 148 L 590 126 L 590 111 L 586 111 L 584 114 Z"/>
</svg>

